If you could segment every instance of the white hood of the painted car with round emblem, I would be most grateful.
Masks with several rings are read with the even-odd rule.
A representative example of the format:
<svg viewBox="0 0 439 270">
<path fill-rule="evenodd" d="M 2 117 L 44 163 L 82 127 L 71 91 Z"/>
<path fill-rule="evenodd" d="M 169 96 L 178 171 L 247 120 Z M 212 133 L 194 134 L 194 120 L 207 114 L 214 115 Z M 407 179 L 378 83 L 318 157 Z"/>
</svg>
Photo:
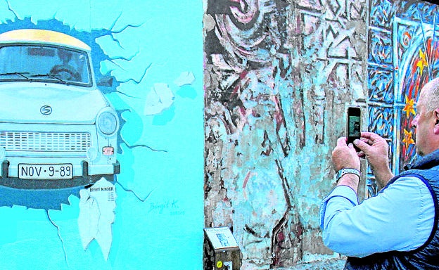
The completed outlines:
<svg viewBox="0 0 439 270">
<path fill-rule="evenodd" d="M 95 88 L 40 82 L 0 84 L 0 122 L 92 124 L 106 99 Z"/>
</svg>

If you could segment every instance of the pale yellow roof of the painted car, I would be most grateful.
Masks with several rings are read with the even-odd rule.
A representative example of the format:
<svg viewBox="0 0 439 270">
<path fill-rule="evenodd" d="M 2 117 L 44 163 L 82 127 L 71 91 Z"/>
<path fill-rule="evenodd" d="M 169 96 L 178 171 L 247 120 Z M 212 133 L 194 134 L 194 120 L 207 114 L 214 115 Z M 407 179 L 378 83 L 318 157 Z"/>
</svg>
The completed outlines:
<svg viewBox="0 0 439 270">
<path fill-rule="evenodd" d="M 40 30 L 40 29 L 19 29 L 11 30 L 0 34 L 0 43 L 3 42 L 31 42 L 31 43 L 43 43 L 43 44 L 56 44 L 62 46 L 70 46 L 77 49 L 83 49 L 90 51 L 90 47 L 79 39 L 56 32 L 52 30 Z"/>
</svg>

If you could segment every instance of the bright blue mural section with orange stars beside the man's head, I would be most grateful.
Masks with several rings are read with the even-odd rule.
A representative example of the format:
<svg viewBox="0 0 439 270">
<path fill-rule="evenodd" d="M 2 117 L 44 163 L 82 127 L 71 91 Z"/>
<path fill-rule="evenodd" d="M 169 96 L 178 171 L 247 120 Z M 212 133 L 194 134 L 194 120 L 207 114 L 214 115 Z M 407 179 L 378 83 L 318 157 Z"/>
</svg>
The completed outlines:
<svg viewBox="0 0 439 270">
<path fill-rule="evenodd" d="M 376 20 L 387 9 L 387 18 Z M 373 1 L 369 30 L 369 129 L 384 138 L 392 168 L 416 158 L 411 122 L 419 91 L 438 76 L 438 6 L 419 1 Z M 375 19 L 374 19 L 375 18 Z M 374 195 L 369 178 L 369 195 Z"/>
</svg>

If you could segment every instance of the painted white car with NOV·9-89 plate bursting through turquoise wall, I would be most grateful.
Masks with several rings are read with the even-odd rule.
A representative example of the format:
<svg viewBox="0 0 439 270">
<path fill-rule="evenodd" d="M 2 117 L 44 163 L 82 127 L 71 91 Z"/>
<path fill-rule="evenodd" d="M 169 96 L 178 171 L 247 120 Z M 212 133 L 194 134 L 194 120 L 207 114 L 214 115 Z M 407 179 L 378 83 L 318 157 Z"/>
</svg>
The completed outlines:
<svg viewBox="0 0 439 270">
<path fill-rule="evenodd" d="M 0 34 L 0 185 L 113 181 L 119 125 L 98 89 L 87 44 L 51 30 Z"/>
</svg>

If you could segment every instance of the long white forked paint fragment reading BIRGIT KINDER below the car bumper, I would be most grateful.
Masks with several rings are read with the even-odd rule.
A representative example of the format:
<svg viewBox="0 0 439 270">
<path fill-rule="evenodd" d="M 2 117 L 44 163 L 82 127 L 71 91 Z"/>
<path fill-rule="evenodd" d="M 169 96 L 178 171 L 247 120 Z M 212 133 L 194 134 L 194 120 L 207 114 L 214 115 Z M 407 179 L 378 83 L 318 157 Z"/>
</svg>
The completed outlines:
<svg viewBox="0 0 439 270">
<path fill-rule="evenodd" d="M 79 191 L 79 195 L 78 225 L 82 248 L 87 250 L 91 241 L 96 239 L 107 260 L 113 241 L 111 224 L 115 219 L 115 186 L 101 178 L 90 188 Z"/>
</svg>

